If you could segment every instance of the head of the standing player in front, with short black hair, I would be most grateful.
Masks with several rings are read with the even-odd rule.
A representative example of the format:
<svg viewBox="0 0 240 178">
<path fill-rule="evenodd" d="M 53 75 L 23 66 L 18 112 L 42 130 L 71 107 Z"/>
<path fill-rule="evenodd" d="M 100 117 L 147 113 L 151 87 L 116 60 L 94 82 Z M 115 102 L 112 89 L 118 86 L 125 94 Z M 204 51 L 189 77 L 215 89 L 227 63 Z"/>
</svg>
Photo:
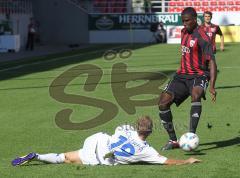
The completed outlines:
<svg viewBox="0 0 240 178">
<path fill-rule="evenodd" d="M 182 23 L 188 32 L 192 32 L 197 27 L 197 12 L 192 7 L 186 7 L 182 13 Z"/>
</svg>

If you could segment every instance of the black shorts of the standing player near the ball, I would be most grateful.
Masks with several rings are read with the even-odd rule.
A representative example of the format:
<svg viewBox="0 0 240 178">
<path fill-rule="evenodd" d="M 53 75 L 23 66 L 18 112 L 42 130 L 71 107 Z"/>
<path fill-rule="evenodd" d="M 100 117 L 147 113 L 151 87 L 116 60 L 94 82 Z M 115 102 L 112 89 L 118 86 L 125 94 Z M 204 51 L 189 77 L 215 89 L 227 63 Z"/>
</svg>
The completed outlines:
<svg viewBox="0 0 240 178">
<path fill-rule="evenodd" d="M 179 106 L 192 94 L 193 87 L 199 86 L 203 88 L 202 98 L 205 100 L 205 92 L 208 87 L 208 78 L 205 76 L 196 76 L 192 78 L 185 78 L 179 75 L 175 75 L 172 80 L 169 81 L 163 92 L 167 92 L 173 95 L 173 102 Z"/>
</svg>

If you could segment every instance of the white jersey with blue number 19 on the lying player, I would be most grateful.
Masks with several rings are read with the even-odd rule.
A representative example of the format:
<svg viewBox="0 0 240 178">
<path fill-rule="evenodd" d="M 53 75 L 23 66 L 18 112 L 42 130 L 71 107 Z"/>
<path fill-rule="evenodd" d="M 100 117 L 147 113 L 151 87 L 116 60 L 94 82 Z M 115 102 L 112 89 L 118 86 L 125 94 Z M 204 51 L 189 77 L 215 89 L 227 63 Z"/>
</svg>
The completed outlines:
<svg viewBox="0 0 240 178">
<path fill-rule="evenodd" d="M 146 162 L 151 164 L 164 164 L 166 157 L 151 147 L 146 141 L 139 138 L 138 133 L 130 125 L 116 128 L 111 137 L 111 152 L 114 153 L 116 164 L 131 164 Z"/>
</svg>

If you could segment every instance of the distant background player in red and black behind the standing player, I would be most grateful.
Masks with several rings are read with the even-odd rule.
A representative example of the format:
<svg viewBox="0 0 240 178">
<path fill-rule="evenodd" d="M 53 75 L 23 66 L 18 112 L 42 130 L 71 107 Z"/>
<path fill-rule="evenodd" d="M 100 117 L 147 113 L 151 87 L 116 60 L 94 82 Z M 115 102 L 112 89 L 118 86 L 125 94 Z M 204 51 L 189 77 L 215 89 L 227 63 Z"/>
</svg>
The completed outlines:
<svg viewBox="0 0 240 178">
<path fill-rule="evenodd" d="M 204 18 L 204 23 L 203 23 L 203 28 L 207 35 L 210 37 L 211 42 L 213 44 L 213 52 L 216 53 L 216 35 L 220 35 L 221 39 L 221 44 L 220 44 L 220 49 L 221 51 L 224 51 L 224 36 L 223 33 L 218 25 L 215 25 L 211 23 L 212 20 L 212 12 L 206 11 L 203 13 L 203 18 Z"/>
</svg>

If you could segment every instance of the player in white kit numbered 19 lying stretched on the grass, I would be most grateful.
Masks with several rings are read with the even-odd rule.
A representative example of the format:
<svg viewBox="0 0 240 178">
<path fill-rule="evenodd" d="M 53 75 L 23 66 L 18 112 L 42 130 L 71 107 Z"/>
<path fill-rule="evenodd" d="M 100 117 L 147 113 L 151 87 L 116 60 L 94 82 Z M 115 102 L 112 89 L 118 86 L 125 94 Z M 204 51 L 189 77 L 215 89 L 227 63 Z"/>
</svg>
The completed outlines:
<svg viewBox="0 0 240 178">
<path fill-rule="evenodd" d="M 146 138 L 152 133 L 153 123 L 148 116 L 137 120 L 136 128 L 122 125 L 114 135 L 99 132 L 84 141 L 83 148 L 61 154 L 29 153 L 12 161 L 13 166 L 36 160 L 46 163 L 78 163 L 84 165 L 118 165 L 144 162 L 149 164 L 181 165 L 200 162 L 195 158 L 187 160 L 169 159 L 151 147 Z"/>
</svg>

